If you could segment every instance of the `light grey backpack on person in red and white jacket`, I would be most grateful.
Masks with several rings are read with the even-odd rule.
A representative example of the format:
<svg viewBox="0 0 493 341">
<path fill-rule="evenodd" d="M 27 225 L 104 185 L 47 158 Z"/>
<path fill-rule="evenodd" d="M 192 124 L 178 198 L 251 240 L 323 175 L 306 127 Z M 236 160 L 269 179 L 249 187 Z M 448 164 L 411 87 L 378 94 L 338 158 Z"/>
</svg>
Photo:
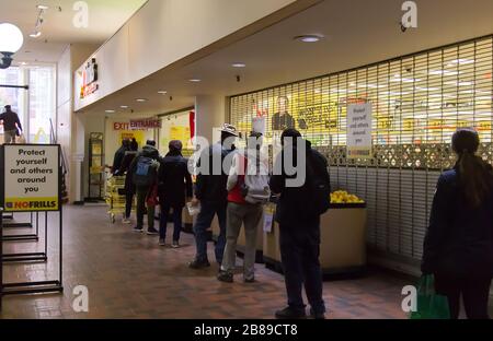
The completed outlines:
<svg viewBox="0 0 493 341">
<path fill-rule="evenodd" d="M 268 169 L 260 161 L 260 157 L 254 157 L 255 166 L 249 167 L 248 157 L 245 162 L 245 175 L 241 187 L 241 192 L 244 200 L 249 203 L 265 204 L 271 199 L 271 188 L 268 186 Z"/>
</svg>

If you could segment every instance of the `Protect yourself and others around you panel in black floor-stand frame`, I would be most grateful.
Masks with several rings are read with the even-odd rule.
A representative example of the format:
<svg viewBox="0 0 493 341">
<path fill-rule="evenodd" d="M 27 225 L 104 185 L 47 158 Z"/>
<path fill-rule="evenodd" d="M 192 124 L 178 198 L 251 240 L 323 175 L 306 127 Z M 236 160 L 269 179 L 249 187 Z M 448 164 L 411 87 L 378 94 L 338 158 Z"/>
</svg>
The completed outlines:
<svg viewBox="0 0 493 341">
<path fill-rule="evenodd" d="M 59 145 L 4 145 L 5 212 L 60 209 Z"/>
</svg>

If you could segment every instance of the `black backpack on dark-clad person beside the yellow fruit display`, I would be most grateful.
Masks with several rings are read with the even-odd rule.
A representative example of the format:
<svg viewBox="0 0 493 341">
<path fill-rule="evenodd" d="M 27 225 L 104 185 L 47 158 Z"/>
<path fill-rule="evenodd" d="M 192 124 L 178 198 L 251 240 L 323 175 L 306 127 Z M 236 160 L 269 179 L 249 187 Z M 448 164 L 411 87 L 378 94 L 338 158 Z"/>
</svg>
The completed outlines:
<svg viewBox="0 0 493 341">
<path fill-rule="evenodd" d="M 322 215 L 331 207 L 331 183 L 325 164 L 313 153 L 307 155 L 307 176 L 310 190 L 310 213 Z"/>
</svg>

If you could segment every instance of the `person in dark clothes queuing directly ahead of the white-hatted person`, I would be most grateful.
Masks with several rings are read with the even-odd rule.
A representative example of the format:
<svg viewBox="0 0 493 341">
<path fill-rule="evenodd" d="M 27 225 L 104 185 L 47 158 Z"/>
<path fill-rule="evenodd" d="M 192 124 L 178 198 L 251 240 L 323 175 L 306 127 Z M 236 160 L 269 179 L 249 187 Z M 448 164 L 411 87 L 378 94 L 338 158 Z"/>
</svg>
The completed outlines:
<svg viewBox="0 0 493 341">
<path fill-rule="evenodd" d="M 185 199 L 192 200 L 193 184 L 192 176 L 188 173 L 188 161 L 182 155 L 182 142 L 171 141 L 169 148 L 170 152 L 161 161 L 158 174 L 159 203 L 161 205 L 159 245 L 165 245 L 168 217 L 172 209 L 174 232 L 171 246 L 179 248 L 182 231 L 182 211 L 185 207 Z"/>
</svg>

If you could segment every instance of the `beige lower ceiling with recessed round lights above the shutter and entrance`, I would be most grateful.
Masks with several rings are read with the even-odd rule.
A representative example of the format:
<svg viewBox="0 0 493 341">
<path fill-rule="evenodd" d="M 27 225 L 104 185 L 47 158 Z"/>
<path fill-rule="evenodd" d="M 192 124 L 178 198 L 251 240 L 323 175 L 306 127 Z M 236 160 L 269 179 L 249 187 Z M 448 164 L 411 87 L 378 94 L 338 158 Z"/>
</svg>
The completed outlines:
<svg viewBox="0 0 493 341">
<path fill-rule="evenodd" d="M 402 33 L 402 0 L 325 0 L 198 61 L 163 69 L 83 111 L 129 105 L 137 113 L 167 113 L 194 105 L 199 94 L 244 93 L 493 33 L 492 0 L 416 2 L 419 28 Z M 316 33 L 326 38 L 317 44 L 293 39 Z M 246 68 L 233 69 L 237 61 Z M 191 78 L 203 82 L 190 83 Z M 169 95 L 159 95 L 159 90 Z M 138 97 L 149 101 L 135 103 Z"/>
</svg>

